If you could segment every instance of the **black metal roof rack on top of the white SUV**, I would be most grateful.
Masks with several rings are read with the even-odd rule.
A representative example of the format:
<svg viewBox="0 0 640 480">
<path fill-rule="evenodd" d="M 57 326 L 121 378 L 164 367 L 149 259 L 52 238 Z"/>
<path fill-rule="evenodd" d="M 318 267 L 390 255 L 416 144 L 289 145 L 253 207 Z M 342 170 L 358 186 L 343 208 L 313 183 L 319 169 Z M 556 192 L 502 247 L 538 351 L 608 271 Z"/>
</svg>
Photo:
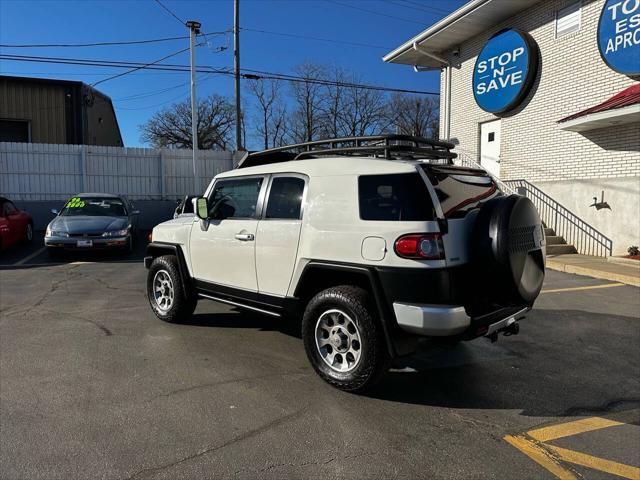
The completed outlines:
<svg viewBox="0 0 640 480">
<path fill-rule="evenodd" d="M 297 143 L 252 152 L 240 160 L 237 168 L 270 163 L 318 158 L 326 155 L 373 156 L 388 160 L 439 160 L 450 164 L 458 155 L 454 144 L 411 135 L 369 135 L 342 137 Z"/>
</svg>

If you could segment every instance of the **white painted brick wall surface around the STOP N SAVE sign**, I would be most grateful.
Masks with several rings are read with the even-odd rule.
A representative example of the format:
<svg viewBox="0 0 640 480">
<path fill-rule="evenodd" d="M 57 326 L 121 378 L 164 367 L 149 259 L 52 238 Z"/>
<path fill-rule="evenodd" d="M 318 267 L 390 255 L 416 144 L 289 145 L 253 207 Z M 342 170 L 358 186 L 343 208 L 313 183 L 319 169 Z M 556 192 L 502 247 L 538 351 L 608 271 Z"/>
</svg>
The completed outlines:
<svg viewBox="0 0 640 480">
<path fill-rule="evenodd" d="M 556 12 L 572 1 L 542 1 L 460 45 L 457 59 L 448 57 L 460 62 L 460 69 L 454 69 L 452 75 L 451 136 L 460 142 L 459 150 L 477 155 L 478 124 L 498 117 L 481 110 L 473 98 L 476 57 L 489 37 L 506 27 L 529 32 L 540 47 L 540 70 L 529 96 L 500 116 L 503 179 L 536 183 L 640 175 L 638 123 L 584 133 L 561 130 L 556 123 L 634 83 L 600 58 L 596 31 L 604 0 L 583 0 L 580 31 L 555 38 Z M 444 99 L 444 78 L 441 80 Z"/>
</svg>

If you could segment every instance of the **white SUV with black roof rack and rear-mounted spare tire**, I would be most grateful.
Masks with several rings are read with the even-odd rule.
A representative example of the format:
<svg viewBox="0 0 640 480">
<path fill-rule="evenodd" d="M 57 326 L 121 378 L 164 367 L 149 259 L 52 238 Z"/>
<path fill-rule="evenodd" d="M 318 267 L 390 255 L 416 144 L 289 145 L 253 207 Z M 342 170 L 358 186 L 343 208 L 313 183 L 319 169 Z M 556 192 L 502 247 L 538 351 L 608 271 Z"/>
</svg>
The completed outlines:
<svg viewBox="0 0 640 480">
<path fill-rule="evenodd" d="M 518 333 L 544 279 L 543 225 L 452 148 L 389 135 L 248 155 L 195 216 L 153 229 L 151 308 L 180 322 L 207 298 L 301 318 L 316 372 L 350 391 L 421 338 Z"/>
</svg>

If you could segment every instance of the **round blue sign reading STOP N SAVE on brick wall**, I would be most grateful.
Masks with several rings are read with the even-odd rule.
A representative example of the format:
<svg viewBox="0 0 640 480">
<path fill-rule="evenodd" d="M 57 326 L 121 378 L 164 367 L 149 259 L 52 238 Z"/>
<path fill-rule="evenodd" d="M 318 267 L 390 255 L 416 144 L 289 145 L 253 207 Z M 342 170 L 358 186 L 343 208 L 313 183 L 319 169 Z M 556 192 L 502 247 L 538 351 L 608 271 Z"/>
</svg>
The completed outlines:
<svg viewBox="0 0 640 480">
<path fill-rule="evenodd" d="M 512 28 L 496 33 L 473 68 L 473 96 L 478 106 L 486 112 L 504 113 L 519 105 L 533 85 L 539 58 L 538 45 L 529 34 Z"/>
</svg>

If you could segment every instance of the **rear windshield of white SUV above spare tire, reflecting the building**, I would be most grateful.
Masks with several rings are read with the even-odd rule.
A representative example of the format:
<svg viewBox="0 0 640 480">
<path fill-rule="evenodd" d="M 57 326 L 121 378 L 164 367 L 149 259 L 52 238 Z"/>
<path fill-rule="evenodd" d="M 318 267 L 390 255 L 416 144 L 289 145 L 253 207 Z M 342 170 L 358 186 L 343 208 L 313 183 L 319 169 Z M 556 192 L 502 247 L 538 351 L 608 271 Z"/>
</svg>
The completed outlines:
<svg viewBox="0 0 640 480">
<path fill-rule="evenodd" d="M 502 195 L 493 179 L 482 171 L 423 168 L 440 200 L 445 218 L 463 218 L 487 200 Z"/>
</svg>

